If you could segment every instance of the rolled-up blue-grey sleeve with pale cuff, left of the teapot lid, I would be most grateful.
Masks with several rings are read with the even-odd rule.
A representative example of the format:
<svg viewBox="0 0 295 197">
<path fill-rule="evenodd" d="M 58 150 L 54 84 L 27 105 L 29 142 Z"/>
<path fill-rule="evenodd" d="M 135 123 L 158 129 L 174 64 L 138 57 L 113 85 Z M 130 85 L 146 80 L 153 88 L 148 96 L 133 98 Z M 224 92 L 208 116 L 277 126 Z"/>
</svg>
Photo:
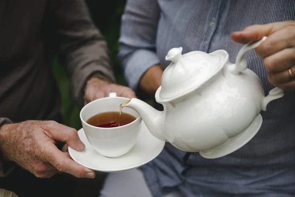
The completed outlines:
<svg viewBox="0 0 295 197">
<path fill-rule="evenodd" d="M 159 15 L 157 0 L 127 0 L 121 19 L 118 59 L 133 90 L 148 68 L 160 63 L 155 53 Z"/>
</svg>

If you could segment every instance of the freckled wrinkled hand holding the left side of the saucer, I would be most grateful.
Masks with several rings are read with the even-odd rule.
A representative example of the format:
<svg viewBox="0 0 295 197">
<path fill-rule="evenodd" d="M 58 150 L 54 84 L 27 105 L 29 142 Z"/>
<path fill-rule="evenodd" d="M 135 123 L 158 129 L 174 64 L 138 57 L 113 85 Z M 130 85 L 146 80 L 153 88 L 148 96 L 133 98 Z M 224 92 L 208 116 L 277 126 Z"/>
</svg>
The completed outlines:
<svg viewBox="0 0 295 197">
<path fill-rule="evenodd" d="M 75 129 L 54 121 L 25 121 L 0 128 L 2 157 L 36 177 L 50 178 L 59 172 L 76 177 L 95 177 L 94 171 L 74 162 L 68 152 L 60 151 L 57 142 L 64 142 L 77 151 L 85 149 Z"/>
</svg>

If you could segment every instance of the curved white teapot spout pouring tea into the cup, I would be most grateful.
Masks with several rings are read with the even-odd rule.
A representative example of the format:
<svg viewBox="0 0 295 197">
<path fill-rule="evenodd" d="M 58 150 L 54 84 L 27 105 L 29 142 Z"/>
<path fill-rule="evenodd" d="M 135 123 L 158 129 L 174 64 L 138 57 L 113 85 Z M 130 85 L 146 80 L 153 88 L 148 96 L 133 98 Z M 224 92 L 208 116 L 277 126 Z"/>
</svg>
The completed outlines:
<svg viewBox="0 0 295 197">
<path fill-rule="evenodd" d="M 162 129 L 164 117 L 162 111 L 158 111 L 148 103 L 136 98 L 132 98 L 122 103 L 120 106 L 134 109 L 145 122 L 149 132 L 159 140 L 166 141 L 166 137 Z"/>
</svg>

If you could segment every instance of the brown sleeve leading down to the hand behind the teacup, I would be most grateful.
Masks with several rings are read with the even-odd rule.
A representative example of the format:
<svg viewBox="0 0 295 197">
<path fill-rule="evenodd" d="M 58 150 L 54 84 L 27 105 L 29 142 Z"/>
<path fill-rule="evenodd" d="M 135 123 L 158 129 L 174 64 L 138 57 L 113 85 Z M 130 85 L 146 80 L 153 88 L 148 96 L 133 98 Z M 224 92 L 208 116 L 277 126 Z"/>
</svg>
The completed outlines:
<svg viewBox="0 0 295 197">
<path fill-rule="evenodd" d="M 65 66 L 78 107 L 90 76 L 115 82 L 107 43 L 95 28 L 84 0 L 51 0 L 52 21 L 59 38 L 59 60 Z"/>
</svg>

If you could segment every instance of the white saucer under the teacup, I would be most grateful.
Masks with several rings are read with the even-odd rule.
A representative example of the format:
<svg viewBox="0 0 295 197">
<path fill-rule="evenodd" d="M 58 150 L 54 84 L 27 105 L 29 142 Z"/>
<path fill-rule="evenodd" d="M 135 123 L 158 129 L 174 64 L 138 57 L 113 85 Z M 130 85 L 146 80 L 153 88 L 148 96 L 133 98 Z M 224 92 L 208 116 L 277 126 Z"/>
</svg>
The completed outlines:
<svg viewBox="0 0 295 197">
<path fill-rule="evenodd" d="M 68 148 L 72 159 L 89 169 L 101 172 L 118 172 L 133 169 L 147 164 L 156 158 L 163 150 L 165 142 L 155 138 L 148 131 L 144 121 L 134 147 L 118 158 L 107 158 L 96 152 L 88 142 L 83 128 L 78 131 L 81 141 L 85 144 L 84 151 Z"/>
</svg>

